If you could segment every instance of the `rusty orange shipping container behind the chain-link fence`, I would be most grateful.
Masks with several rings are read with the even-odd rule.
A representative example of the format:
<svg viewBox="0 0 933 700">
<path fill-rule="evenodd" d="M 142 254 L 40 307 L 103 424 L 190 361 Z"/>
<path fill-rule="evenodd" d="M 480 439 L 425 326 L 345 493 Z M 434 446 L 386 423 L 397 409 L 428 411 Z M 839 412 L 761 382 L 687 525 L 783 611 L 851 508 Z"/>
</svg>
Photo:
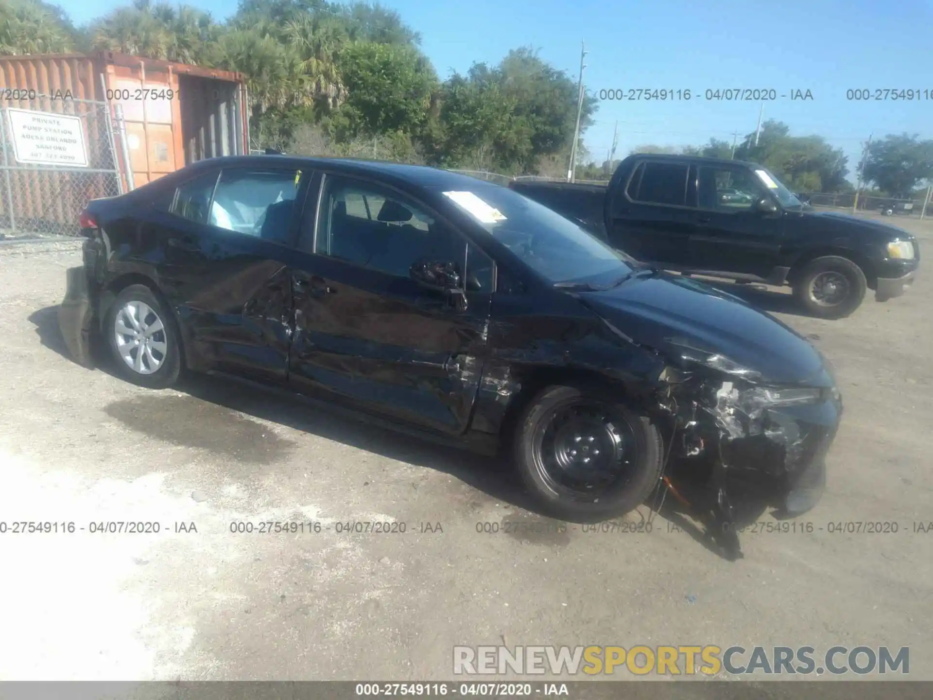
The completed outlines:
<svg viewBox="0 0 933 700">
<path fill-rule="evenodd" d="M 0 220 L 20 229 L 73 224 L 88 199 L 117 193 L 117 178 L 126 191 L 194 161 L 249 152 L 245 81 L 229 71 L 110 51 L 0 56 L 0 97 L 5 110 L 77 115 L 84 131 L 84 170 L 21 165 L 7 115 Z"/>
</svg>

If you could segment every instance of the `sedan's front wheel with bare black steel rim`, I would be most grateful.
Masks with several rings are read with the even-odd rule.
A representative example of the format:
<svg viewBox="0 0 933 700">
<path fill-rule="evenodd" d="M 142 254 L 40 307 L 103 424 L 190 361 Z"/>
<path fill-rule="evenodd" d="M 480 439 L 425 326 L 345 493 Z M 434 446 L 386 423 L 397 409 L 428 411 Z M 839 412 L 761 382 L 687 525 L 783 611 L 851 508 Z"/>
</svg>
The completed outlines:
<svg viewBox="0 0 933 700">
<path fill-rule="evenodd" d="M 618 390 L 603 386 L 543 389 L 522 412 L 514 440 L 522 482 L 542 511 L 561 520 L 592 523 L 633 511 L 661 478 L 664 450 L 658 427 L 620 402 Z M 586 459 L 592 462 L 584 464 Z M 581 472 L 614 474 L 615 481 L 602 489 L 597 483 L 587 487 L 574 478 Z"/>
</svg>

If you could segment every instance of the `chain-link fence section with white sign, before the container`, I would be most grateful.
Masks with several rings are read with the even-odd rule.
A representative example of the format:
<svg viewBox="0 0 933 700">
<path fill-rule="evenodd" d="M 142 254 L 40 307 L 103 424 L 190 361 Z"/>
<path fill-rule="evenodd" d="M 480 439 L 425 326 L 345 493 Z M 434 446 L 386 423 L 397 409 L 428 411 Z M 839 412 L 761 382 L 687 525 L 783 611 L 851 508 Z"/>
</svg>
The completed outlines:
<svg viewBox="0 0 933 700">
<path fill-rule="evenodd" d="M 29 91 L 0 105 L 0 122 L 6 237 L 77 235 L 90 200 L 122 194 L 106 103 Z"/>
</svg>

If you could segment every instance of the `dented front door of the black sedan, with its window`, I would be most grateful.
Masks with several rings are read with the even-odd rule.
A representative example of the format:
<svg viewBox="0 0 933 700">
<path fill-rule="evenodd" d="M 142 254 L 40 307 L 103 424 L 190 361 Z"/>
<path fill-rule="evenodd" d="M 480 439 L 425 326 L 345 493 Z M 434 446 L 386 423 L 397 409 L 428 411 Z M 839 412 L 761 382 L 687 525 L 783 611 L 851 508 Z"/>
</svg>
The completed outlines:
<svg viewBox="0 0 933 700">
<path fill-rule="evenodd" d="M 465 432 L 485 352 L 492 261 L 470 263 L 466 238 L 376 183 L 326 175 L 317 208 L 316 217 L 305 208 L 291 266 L 289 384 L 416 427 Z M 418 259 L 475 270 L 466 309 L 411 279 Z"/>
</svg>

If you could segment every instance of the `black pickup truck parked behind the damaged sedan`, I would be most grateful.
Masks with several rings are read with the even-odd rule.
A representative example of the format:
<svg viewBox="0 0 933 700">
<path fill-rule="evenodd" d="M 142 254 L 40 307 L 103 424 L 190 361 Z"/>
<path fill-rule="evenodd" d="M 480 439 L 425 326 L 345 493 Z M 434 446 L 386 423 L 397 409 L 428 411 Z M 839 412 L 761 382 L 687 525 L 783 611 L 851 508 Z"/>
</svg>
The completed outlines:
<svg viewBox="0 0 933 700">
<path fill-rule="evenodd" d="M 635 154 L 608 186 L 515 180 L 511 189 L 664 270 L 793 287 L 841 318 L 904 293 L 920 261 L 914 237 L 878 220 L 816 212 L 767 168 L 745 161 Z"/>
</svg>

